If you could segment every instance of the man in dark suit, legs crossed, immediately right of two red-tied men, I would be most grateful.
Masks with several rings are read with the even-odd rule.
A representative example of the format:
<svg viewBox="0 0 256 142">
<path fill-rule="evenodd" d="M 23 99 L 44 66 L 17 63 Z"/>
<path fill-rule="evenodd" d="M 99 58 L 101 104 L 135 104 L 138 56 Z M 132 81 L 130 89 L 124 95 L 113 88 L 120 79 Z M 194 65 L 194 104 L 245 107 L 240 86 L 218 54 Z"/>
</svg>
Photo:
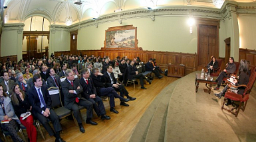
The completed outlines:
<svg viewBox="0 0 256 142">
<path fill-rule="evenodd" d="M 110 112 L 114 112 L 118 114 L 119 112 L 114 109 L 114 98 L 119 98 L 120 101 L 128 102 L 130 99 L 129 98 L 123 98 L 122 96 L 119 96 L 112 87 L 107 87 L 106 88 L 106 83 L 104 81 L 103 74 L 100 73 L 98 68 L 92 69 L 92 75 L 90 75 L 92 78 L 94 87 L 96 87 L 97 94 L 98 96 L 108 96 L 109 101 L 110 101 Z"/>
</svg>

